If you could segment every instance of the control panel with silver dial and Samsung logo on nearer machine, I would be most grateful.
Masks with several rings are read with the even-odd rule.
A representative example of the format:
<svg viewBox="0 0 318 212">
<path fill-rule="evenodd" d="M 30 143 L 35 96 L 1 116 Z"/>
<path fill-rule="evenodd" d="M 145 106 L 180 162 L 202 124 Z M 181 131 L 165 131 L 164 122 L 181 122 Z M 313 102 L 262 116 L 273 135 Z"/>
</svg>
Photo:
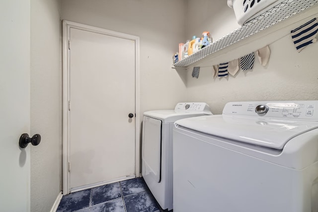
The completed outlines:
<svg viewBox="0 0 318 212">
<path fill-rule="evenodd" d="M 229 102 L 223 114 L 318 121 L 318 101 Z"/>
</svg>

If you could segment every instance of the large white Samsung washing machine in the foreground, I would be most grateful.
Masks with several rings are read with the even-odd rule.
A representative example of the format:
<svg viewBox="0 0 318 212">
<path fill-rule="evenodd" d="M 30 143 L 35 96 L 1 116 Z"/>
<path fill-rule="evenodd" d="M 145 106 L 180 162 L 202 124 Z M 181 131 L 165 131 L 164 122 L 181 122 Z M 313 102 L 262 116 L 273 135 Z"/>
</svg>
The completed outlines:
<svg viewBox="0 0 318 212">
<path fill-rule="evenodd" d="M 174 212 L 318 212 L 318 101 L 175 122 Z"/>
</svg>

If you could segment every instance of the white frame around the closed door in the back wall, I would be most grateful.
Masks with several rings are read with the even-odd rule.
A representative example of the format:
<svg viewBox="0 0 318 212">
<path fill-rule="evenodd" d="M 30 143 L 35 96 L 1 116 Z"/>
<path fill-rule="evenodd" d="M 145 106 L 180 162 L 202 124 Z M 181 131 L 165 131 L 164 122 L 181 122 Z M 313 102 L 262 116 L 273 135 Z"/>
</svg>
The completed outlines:
<svg viewBox="0 0 318 212">
<path fill-rule="evenodd" d="M 139 37 L 103 28 L 63 20 L 63 195 L 70 193 L 70 29 L 76 28 L 104 35 L 135 41 L 135 175 L 140 177 L 140 81 L 139 81 Z"/>
</svg>

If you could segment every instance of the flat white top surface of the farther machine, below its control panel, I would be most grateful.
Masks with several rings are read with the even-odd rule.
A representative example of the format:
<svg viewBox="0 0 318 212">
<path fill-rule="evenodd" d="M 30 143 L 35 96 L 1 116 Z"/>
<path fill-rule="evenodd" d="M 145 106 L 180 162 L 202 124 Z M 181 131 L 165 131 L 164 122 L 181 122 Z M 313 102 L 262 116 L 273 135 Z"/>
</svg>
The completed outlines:
<svg viewBox="0 0 318 212">
<path fill-rule="evenodd" d="M 205 113 L 204 111 L 153 110 L 145 112 L 144 116 L 159 119 L 162 123 L 173 123 L 179 119 L 204 116 Z"/>
</svg>

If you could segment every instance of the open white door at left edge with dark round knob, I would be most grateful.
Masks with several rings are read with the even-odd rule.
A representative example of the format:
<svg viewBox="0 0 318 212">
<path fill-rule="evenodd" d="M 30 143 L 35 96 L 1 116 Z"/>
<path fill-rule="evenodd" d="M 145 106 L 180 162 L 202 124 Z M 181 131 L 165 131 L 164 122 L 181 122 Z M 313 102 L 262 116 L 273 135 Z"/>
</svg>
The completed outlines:
<svg viewBox="0 0 318 212">
<path fill-rule="evenodd" d="M 30 211 L 30 0 L 0 2 L 0 211 Z"/>
</svg>

